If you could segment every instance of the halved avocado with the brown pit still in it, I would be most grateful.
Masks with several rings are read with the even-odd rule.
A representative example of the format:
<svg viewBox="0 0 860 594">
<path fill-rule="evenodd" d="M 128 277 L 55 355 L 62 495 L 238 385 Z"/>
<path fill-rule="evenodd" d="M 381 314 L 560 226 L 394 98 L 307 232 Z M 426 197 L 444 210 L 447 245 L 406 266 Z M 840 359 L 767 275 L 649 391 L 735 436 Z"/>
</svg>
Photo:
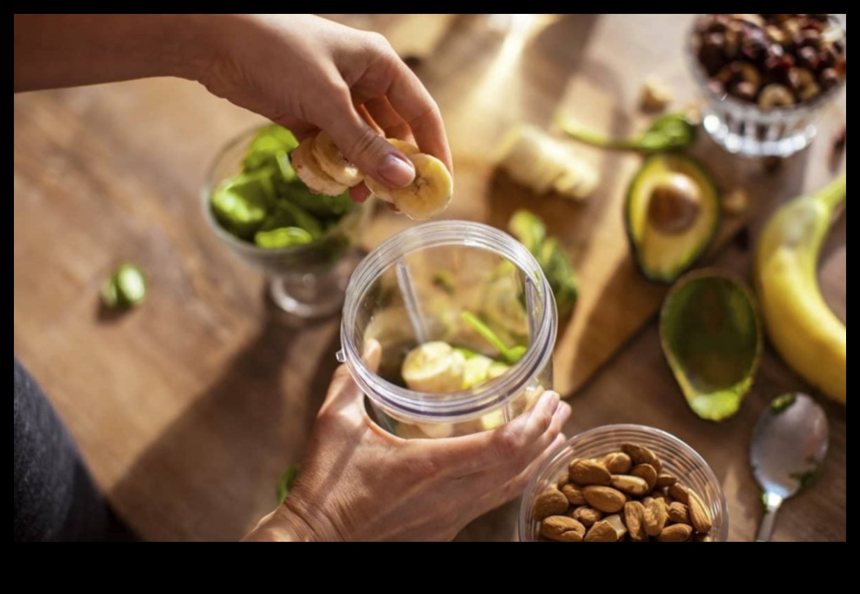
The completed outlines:
<svg viewBox="0 0 860 594">
<path fill-rule="evenodd" d="M 720 226 L 720 194 L 691 156 L 649 157 L 624 204 L 624 226 L 636 265 L 648 279 L 672 283 L 708 248 Z"/>
</svg>

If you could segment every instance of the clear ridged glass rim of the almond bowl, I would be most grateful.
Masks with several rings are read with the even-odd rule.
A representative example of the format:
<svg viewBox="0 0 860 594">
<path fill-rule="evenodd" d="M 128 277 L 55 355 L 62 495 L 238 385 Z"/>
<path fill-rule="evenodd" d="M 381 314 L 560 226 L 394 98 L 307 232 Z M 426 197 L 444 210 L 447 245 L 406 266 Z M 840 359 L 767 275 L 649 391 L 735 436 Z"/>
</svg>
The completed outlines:
<svg viewBox="0 0 860 594">
<path fill-rule="evenodd" d="M 728 506 L 726 505 L 726 497 L 725 494 L 722 493 L 722 484 L 719 479 L 717 479 L 713 469 L 710 468 L 710 464 L 705 462 L 705 459 L 696 450 L 694 450 L 690 444 L 687 444 L 682 439 L 676 438 L 672 433 L 665 432 L 662 429 L 657 429 L 656 427 L 625 423 L 594 427 L 593 429 L 589 429 L 585 432 L 577 433 L 574 437 L 569 438 L 568 441 L 564 442 L 558 450 L 553 452 L 546 460 L 544 460 L 543 463 L 541 463 L 534 474 L 531 475 L 531 479 L 529 479 L 529 483 L 525 487 L 522 501 L 519 505 L 518 535 L 520 542 L 534 541 L 534 537 L 532 535 L 534 532 L 533 529 L 535 522 L 531 518 L 531 504 L 537 496 L 535 491 L 537 489 L 538 481 L 550 478 L 547 476 L 549 469 L 555 466 L 557 462 L 560 462 L 565 458 L 567 460 L 573 460 L 574 457 L 576 457 L 576 446 L 580 445 L 583 441 L 591 441 L 591 438 L 605 438 L 605 454 L 608 454 L 611 451 L 617 451 L 612 449 L 611 443 L 613 441 L 616 441 L 617 444 L 621 444 L 627 441 L 636 442 L 636 440 L 639 439 L 641 441 L 659 441 L 673 446 L 674 450 L 678 450 L 682 456 L 689 458 L 689 462 L 691 462 L 692 465 L 697 468 L 701 468 L 705 481 L 716 491 L 717 497 L 715 503 L 721 523 L 719 533 L 712 534 L 711 536 L 716 542 L 724 542 L 728 539 Z M 648 443 L 645 443 L 644 445 L 647 446 Z M 673 462 L 667 461 L 665 456 L 663 460 L 664 462 Z M 683 478 L 684 477 L 679 477 L 682 482 Z M 701 495 L 701 493 L 699 494 Z M 714 505 L 709 505 L 709 507 L 711 512 L 714 512 Z"/>
</svg>

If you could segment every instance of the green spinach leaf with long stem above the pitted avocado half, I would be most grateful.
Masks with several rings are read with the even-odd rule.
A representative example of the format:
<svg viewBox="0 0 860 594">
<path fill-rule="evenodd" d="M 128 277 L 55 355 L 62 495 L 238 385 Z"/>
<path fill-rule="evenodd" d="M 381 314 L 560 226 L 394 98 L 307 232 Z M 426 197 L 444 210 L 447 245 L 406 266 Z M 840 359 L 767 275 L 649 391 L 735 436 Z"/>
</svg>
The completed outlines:
<svg viewBox="0 0 860 594">
<path fill-rule="evenodd" d="M 633 138 L 610 138 L 581 126 L 576 120 L 559 113 L 558 126 L 571 138 L 601 149 L 639 150 L 659 153 L 684 150 L 696 140 L 697 127 L 687 113 L 667 113 L 651 122 L 648 130 Z"/>
</svg>

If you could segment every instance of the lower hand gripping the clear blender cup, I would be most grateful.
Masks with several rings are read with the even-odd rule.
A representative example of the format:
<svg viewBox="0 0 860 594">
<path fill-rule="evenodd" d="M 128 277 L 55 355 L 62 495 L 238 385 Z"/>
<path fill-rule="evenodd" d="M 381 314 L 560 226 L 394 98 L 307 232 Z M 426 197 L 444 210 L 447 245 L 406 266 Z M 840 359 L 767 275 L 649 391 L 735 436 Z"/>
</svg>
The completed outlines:
<svg viewBox="0 0 860 594">
<path fill-rule="evenodd" d="M 378 365 L 379 346 L 365 355 Z M 564 442 L 570 407 L 544 392 L 531 412 L 491 432 L 401 439 L 365 411 L 346 366 L 335 371 L 295 487 L 249 541 L 448 541 L 522 492 Z"/>
</svg>

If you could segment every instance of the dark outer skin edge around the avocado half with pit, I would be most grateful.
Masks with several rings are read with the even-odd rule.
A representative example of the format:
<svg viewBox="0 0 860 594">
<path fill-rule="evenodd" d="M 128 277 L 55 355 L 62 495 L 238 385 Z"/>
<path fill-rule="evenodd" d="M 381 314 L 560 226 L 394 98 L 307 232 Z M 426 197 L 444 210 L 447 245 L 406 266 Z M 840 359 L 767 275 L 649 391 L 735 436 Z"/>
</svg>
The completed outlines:
<svg viewBox="0 0 860 594">
<path fill-rule="evenodd" d="M 647 262 L 642 260 L 642 249 L 640 248 L 640 242 L 636 238 L 635 231 L 633 229 L 631 209 L 634 208 L 637 203 L 637 187 L 641 187 L 643 185 L 642 182 L 648 176 L 660 175 L 667 171 L 679 171 L 688 175 L 692 174 L 689 175 L 689 177 L 691 180 L 696 182 L 697 186 L 701 190 L 703 202 L 710 203 L 711 210 L 707 212 L 711 213 L 713 220 L 704 230 L 704 235 L 702 236 L 701 241 L 697 242 L 695 248 L 682 254 L 681 257 L 679 257 L 677 266 L 673 266 L 671 271 L 663 273 L 652 269 L 648 266 Z M 642 203 L 642 208 L 648 208 L 647 199 L 643 199 L 640 202 Z M 706 216 L 705 211 L 701 213 L 701 216 Z M 720 193 L 717 190 L 716 184 L 711 178 L 710 173 L 708 173 L 708 170 L 704 168 L 701 162 L 698 162 L 693 157 L 683 153 L 671 152 L 649 156 L 645 162 L 642 163 L 642 167 L 639 168 L 636 175 L 630 181 L 630 186 L 627 189 L 624 199 L 624 230 L 627 235 L 627 240 L 630 243 L 630 253 L 633 256 L 634 262 L 636 262 L 636 268 L 642 276 L 657 283 L 671 284 L 679 279 L 681 275 L 689 271 L 691 267 L 696 264 L 697 260 L 708 246 L 710 246 L 714 236 L 716 236 L 716 231 L 720 228 L 721 221 L 722 205 L 720 203 Z M 683 235 L 685 234 L 680 234 L 679 236 Z"/>
</svg>

